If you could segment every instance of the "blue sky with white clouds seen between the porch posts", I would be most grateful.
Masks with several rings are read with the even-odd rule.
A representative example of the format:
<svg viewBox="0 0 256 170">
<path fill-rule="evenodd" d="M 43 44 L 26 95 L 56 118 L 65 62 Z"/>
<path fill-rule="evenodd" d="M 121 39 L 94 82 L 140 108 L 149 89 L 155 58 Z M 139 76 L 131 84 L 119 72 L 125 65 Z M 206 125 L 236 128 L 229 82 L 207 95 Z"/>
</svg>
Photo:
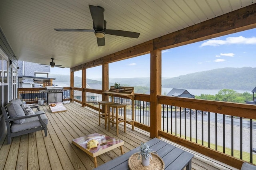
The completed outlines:
<svg viewBox="0 0 256 170">
<path fill-rule="evenodd" d="M 162 51 L 162 77 L 224 67 L 255 67 L 256 29 L 229 34 Z M 51 68 L 52 74 L 70 74 L 70 69 Z M 100 79 L 102 67 L 86 70 L 89 79 Z M 81 76 L 81 71 L 75 72 Z M 150 54 L 109 64 L 110 78 L 150 77 Z"/>
</svg>

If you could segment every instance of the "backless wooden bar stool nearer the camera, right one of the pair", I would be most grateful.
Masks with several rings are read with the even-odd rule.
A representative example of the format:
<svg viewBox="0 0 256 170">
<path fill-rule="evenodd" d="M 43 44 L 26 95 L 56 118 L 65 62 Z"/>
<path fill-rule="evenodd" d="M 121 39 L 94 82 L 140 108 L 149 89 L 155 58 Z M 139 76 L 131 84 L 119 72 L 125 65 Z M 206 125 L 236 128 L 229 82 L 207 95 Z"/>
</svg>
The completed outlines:
<svg viewBox="0 0 256 170">
<path fill-rule="evenodd" d="M 112 114 L 110 114 L 110 107 L 112 108 Z M 123 108 L 124 109 L 124 117 L 122 119 L 120 119 L 120 117 L 118 117 L 118 109 Z M 114 109 L 116 109 L 116 113 L 114 113 Z M 110 130 L 110 123 L 112 123 L 112 125 L 116 124 L 116 135 L 118 135 L 118 123 L 124 123 L 124 132 L 126 132 L 126 105 L 122 105 L 119 103 L 112 103 L 110 105 L 108 105 L 108 131 Z M 116 121 L 115 121 L 116 119 Z"/>
</svg>

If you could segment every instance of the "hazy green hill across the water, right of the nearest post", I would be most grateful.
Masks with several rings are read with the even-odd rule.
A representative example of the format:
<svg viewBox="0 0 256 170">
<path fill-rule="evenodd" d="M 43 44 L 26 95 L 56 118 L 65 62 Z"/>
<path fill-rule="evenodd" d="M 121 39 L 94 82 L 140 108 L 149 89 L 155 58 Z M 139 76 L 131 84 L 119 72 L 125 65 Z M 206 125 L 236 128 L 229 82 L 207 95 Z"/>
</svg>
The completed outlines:
<svg viewBox="0 0 256 170">
<path fill-rule="evenodd" d="M 162 87 L 181 89 L 252 90 L 256 86 L 256 68 L 222 68 L 201 71 L 162 81 Z"/>
</svg>

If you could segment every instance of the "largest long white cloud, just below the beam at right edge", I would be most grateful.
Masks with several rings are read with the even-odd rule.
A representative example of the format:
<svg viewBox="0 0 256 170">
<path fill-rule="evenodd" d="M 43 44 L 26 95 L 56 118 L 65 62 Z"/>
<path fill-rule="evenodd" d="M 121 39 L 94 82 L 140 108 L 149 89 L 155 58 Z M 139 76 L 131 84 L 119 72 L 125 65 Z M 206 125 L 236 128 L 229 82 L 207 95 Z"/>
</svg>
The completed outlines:
<svg viewBox="0 0 256 170">
<path fill-rule="evenodd" d="M 220 46 L 224 44 L 256 44 L 256 37 L 244 38 L 243 36 L 239 37 L 228 37 L 226 40 L 208 40 L 200 45 L 203 46 Z"/>
</svg>

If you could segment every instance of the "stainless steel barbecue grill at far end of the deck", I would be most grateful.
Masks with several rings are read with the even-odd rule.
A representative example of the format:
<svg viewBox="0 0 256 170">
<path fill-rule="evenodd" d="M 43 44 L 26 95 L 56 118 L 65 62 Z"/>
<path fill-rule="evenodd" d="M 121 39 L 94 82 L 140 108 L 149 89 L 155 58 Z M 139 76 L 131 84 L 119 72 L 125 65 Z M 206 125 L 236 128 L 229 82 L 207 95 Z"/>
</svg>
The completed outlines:
<svg viewBox="0 0 256 170">
<path fill-rule="evenodd" d="M 63 102 L 63 87 L 47 86 L 47 103 Z"/>
</svg>

